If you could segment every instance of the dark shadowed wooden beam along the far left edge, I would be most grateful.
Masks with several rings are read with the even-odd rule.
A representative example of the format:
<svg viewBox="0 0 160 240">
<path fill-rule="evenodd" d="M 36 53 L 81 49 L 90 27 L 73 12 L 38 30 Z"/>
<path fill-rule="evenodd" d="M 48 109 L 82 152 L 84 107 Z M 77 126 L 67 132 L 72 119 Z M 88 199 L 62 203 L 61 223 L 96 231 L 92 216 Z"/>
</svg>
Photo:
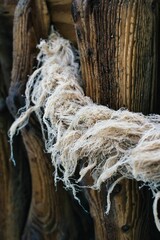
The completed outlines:
<svg viewBox="0 0 160 240">
<path fill-rule="evenodd" d="M 14 145 L 16 167 L 9 161 L 7 132 L 13 119 L 7 110 L 6 97 L 11 79 L 15 6 L 16 0 L 0 1 L 0 239 L 6 240 L 20 239 L 31 193 L 30 174 L 26 174 L 29 168 L 21 137 L 15 141 L 17 146 Z"/>
</svg>

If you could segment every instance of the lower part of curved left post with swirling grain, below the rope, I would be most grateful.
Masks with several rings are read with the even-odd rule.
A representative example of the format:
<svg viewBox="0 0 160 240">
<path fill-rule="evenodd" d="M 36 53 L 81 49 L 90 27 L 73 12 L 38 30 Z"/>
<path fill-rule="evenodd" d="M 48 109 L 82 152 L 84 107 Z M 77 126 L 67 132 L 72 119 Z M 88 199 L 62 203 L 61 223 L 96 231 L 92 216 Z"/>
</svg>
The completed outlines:
<svg viewBox="0 0 160 240">
<path fill-rule="evenodd" d="M 23 239 L 79 239 L 81 219 L 76 221 L 72 199 L 62 184 L 56 190 L 50 158 L 34 132 L 32 128 L 23 131 L 32 176 L 32 201 Z"/>
</svg>

